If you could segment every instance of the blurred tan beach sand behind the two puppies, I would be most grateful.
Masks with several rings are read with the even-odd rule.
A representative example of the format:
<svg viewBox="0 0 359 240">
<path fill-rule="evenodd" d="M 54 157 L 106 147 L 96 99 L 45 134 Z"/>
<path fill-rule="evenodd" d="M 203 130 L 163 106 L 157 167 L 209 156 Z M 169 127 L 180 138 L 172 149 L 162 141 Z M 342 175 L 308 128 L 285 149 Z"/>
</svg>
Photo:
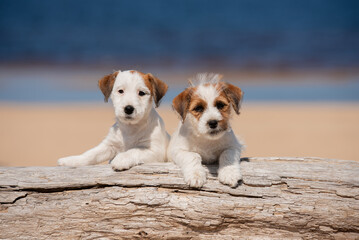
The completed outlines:
<svg viewBox="0 0 359 240">
<path fill-rule="evenodd" d="M 171 134 L 178 118 L 158 109 Z M 55 166 L 97 145 L 114 123 L 110 104 L 0 104 L 0 166 Z M 359 160 L 359 103 L 247 103 L 232 120 L 243 157 Z"/>
</svg>

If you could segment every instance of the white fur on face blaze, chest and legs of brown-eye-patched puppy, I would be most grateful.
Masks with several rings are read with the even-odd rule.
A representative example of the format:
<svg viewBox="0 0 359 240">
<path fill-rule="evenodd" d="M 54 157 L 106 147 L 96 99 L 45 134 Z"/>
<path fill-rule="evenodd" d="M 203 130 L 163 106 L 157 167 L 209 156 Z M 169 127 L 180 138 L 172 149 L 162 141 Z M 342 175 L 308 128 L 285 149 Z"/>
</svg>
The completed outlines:
<svg viewBox="0 0 359 240">
<path fill-rule="evenodd" d="M 219 161 L 219 181 L 235 187 L 242 179 L 239 168 L 242 144 L 237 140 L 229 123 L 228 129 L 221 133 L 215 136 L 209 133 L 207 121 L 222 120 L 219 110 L 213 106 L 219 94 L 216 88 L 213 85 L 204 86 L 202 82 L 194 94 L 205 100 L 208 108 L 199 120 L 187 113 L 184 122 L 179 123 L 168 146 L 168 159 L 181 167 L 185 182 L 196 188 L 202 187 L 206 182 L 206 171 L 202 163 Z"/>
</svg>

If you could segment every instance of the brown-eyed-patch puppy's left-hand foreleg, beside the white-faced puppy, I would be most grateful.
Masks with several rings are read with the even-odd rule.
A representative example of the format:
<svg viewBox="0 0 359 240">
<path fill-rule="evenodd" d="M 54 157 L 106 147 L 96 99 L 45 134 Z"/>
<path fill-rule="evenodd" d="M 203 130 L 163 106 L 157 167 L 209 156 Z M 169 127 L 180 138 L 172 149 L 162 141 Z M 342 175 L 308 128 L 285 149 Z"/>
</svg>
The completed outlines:
<svg viewBox="0 0 359 240">
<path fill-rule="evenodd" d="M 202 187 L 207 181 L 206 170 L 198 153 L 178 150 L 172 160 L 181 168 L 184 181 L 194 188 Z"/>
</svg>

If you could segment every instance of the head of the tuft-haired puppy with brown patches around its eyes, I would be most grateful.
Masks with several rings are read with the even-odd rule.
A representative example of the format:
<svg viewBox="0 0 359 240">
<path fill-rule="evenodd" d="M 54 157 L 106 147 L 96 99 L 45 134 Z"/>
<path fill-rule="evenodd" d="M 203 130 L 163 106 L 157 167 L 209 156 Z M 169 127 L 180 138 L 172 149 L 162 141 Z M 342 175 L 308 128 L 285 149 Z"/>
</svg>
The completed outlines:
<svg viewBox="0 0 359 240">
<path fill-rule="evenodd" d="M 197 135 L 218 139 L 230 129 L 232 109 L 239 114 L 243 93 L 232 84 L 220 82 L 219 75 L 205 76 L 216 81 L 205 81 L 187 88 L 173 99 L 173 108 L 183 122 L 191 124 Z"/>
</svg>

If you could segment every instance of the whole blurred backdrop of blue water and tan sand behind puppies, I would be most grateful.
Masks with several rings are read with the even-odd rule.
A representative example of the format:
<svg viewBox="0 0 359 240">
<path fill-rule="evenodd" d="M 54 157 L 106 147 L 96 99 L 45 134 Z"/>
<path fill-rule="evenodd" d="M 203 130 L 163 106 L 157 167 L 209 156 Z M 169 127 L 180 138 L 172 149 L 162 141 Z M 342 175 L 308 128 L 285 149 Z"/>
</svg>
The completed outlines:
<svg viewBox="0 0 359 240">
<path fill-rule="evenodd" d="M 114 122 L 97 81 L 151 72 L 170 89 L 198 72 L 245 92 L 243 156 L 359 160 L 356 0 L 0 0 L 0 165 L 54 166 Z"/>
</svg>

